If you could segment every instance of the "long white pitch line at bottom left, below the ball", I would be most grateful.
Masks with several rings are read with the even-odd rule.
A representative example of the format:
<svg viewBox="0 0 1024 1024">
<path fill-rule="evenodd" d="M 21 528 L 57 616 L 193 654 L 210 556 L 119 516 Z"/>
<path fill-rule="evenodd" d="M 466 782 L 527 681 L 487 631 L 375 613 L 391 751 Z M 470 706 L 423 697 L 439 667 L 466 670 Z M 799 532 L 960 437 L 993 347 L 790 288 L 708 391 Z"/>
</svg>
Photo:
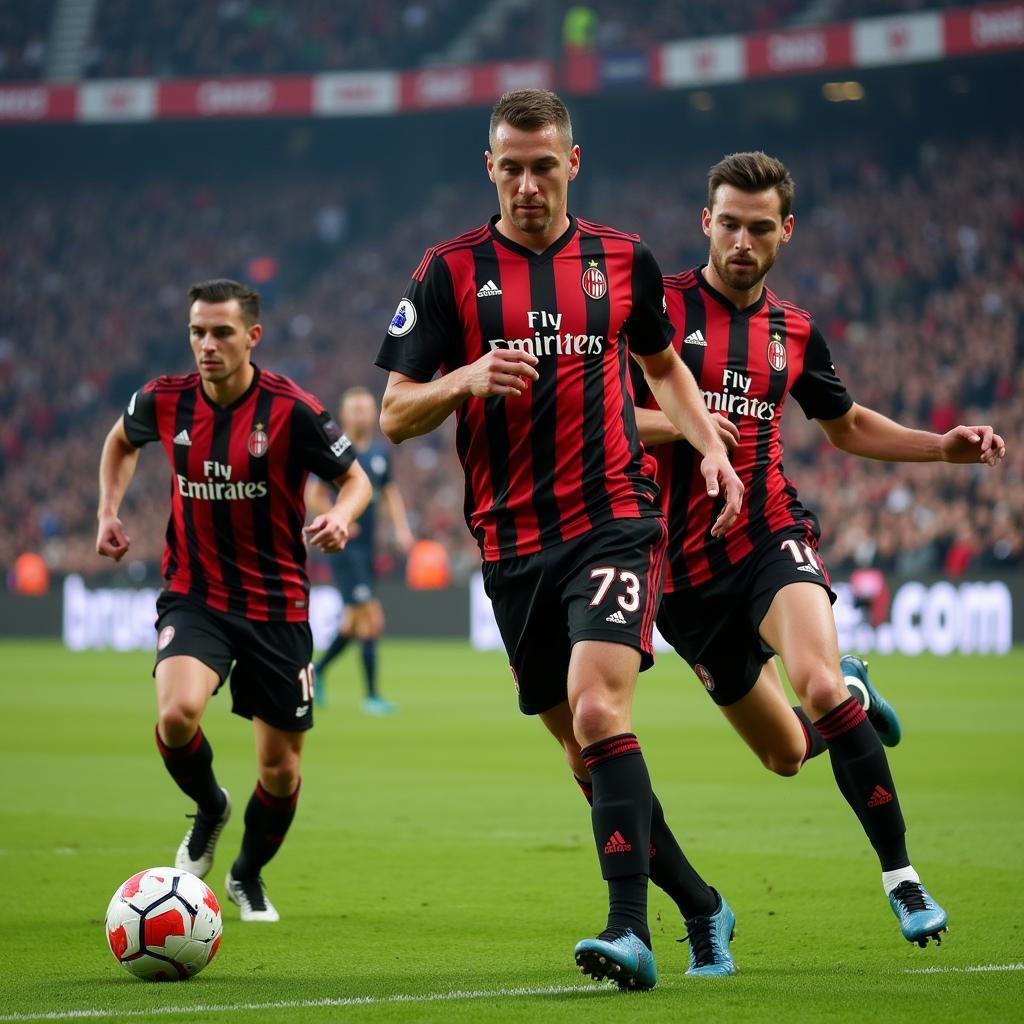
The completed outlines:
<svg viewBox="0 0 1024 1024">
<path fill-rule="evenodd" d="M 489 991 L 453 989 L 451 992 L 403 993 L 401 995 L 351 995 L 323 999 L 283 999 L 280 1002 L 224 1002 L 199 1004 L 191 1007 L 153 1007 L 150 1010 L 52 1010 L 37 1014 L 2 1014 L 0 1021 L 71 1021 L 90 1020 L 97 1017 L 172 1017 L 175 1014 L 227 1014 L 244 1010 L 314 1010 L 319 1007 L 367 1007 L 388 1002 L 450 1002 L 460 999 L 508 999 L 530 995 L 592 995 L 613 992 L 609 986 L 548 985 L 544 988 L 495 988 Z"/>
</svg>

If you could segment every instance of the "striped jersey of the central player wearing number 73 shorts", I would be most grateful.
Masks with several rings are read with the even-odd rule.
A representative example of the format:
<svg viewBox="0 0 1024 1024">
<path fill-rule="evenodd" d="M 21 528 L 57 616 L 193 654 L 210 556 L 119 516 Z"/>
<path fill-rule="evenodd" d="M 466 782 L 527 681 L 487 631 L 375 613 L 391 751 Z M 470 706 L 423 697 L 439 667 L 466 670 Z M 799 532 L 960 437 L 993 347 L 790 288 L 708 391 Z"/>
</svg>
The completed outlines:
<svg viewBox="0 0 1024 1024">
<path fill-rule="evenodd" d="M 497 348 L 538 356 L 524 394 L 470 397 L 457 413 L 466 521 L 486 561 L 660 514 L 627 347 L 651 354 L 672 339 L 660 271 L 637 236 L 570 217 L 538 254 L 497 220 L 427 250 L 377 356 L 418 381 Z"/>
</svg>

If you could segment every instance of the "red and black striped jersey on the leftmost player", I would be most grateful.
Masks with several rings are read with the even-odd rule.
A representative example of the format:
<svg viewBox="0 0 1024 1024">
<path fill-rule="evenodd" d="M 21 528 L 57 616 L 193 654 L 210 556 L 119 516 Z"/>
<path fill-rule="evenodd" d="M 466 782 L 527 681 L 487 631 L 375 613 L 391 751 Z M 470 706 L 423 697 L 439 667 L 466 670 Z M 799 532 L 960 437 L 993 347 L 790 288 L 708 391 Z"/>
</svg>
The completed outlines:
<svg viewBox="0 0 1024 1024">
<path fill-rule="evenodd" d="M 171 463 L 167 589 L 257 622 L 304 622 L 306 477 L 337 479 L 354 453 L 313 395 L 254 369 L 246 393 L 223 407 L 197 373 L 158 377 L 123 422 L 132 444 L 160 441 Z"/>
</svg>

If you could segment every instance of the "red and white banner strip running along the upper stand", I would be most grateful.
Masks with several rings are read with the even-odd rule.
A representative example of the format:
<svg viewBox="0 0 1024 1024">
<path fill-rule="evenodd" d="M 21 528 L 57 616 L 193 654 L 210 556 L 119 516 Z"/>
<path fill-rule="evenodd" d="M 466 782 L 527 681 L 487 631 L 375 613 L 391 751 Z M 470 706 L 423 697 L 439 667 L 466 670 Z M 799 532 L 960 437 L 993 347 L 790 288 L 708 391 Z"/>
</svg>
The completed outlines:
<svg viewBox="0 0 1024 1024">
<path fill-rule="evenodd" d="M 510 60 L 414 72 L 20 82 L 0 85 L 0 124 L 386 116 L 484 105 L 509 89 L 563 88 L 587 95 L 624 85 L 699 88 L 1009 50 L 1024 50 L 1024 2 L 671 42 L 647 52 L 646 74 L 625 81 L 613 67 L 622 54 L 588 52 L 557 65 Z M 643 56 L 631 54 L 630 67 L 642 69 Z"/>
</svg>

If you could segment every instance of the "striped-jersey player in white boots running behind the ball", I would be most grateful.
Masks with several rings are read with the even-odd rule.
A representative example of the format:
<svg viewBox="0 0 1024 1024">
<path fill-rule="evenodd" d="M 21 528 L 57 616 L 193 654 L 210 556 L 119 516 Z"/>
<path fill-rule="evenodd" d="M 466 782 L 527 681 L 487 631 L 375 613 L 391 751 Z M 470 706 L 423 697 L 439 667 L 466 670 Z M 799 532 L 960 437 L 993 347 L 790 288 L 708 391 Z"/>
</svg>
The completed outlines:
<svg viewBox="0 0 1024 1024">
<path fill-rule="evenodd" d="M 157 601 L 157 746 L 197 804 L 175 866 L 205 876 L 230 816 L 200 725 L 230 675 L 231 710 L 253 723 L 258 780 L 225 887 L 243 921 L 272 922 L 279 914 L 260 872 L 295 816 L 312 726 L 306 477 L 316 473 L 338 487 L 334 505 L 305 529 L 326 552 L 345 546 L 371 487 L 321 402 L 252 362 L 262 336 L 259 295 L 216 280 L 194 285 L 188 298 L 197 370 L 150 381 L 108 434 L 96 550 L 115 561 L 130 550 L 118 511 L 140 449 L 159 441 L 172 479 L 166 586 Z"/>
</svg>

